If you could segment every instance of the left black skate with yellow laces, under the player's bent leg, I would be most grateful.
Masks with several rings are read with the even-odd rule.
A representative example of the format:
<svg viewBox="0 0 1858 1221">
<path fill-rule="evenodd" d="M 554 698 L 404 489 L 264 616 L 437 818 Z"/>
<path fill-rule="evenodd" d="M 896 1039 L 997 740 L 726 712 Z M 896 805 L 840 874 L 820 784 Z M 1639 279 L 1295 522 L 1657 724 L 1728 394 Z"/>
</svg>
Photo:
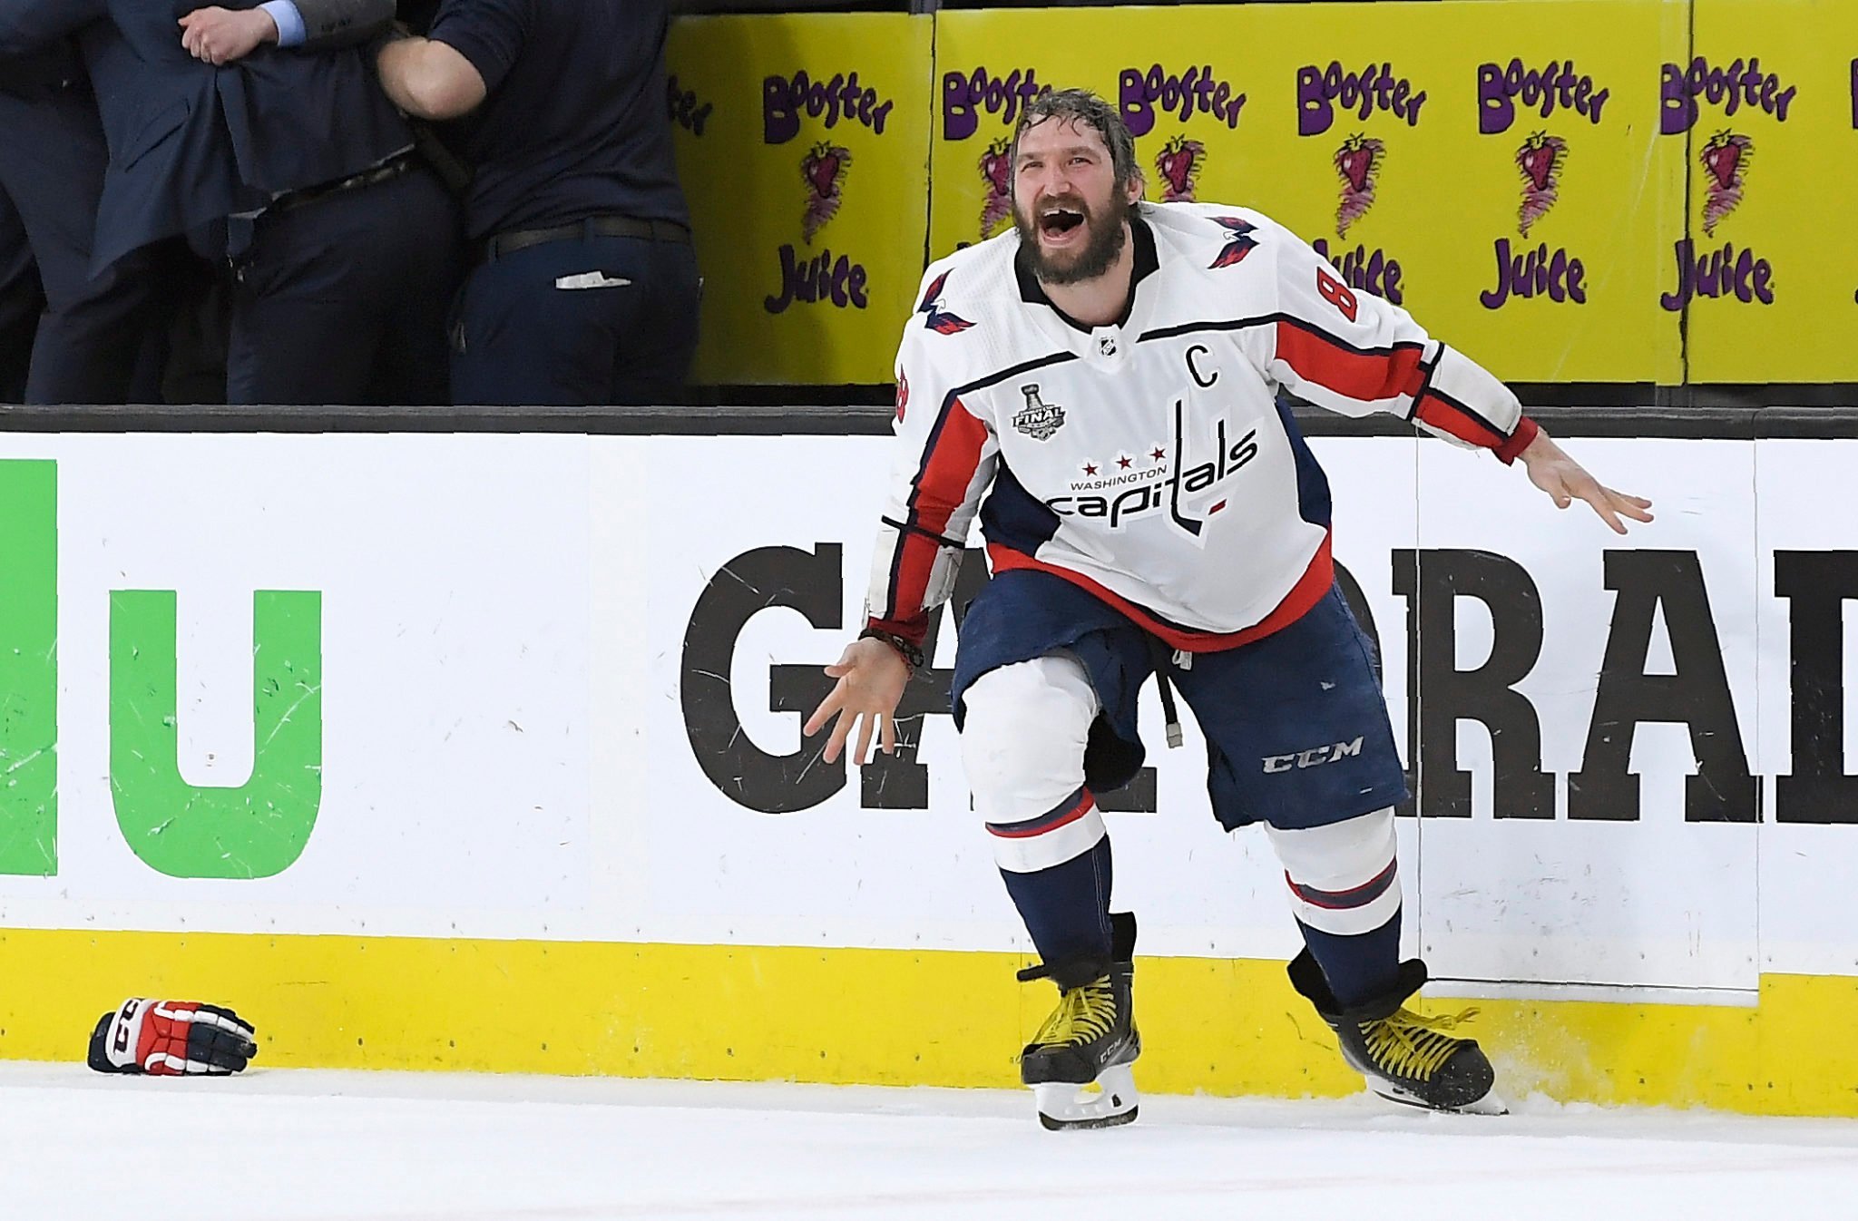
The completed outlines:
<svg viewBox="0 0 1858 1221">
<path fill-rule="evenodd" d="M 1029 966 L 1018 978 L 1052 979 L 1057 1009 L 1020 1052 L 1020 1080 L 1033 1087 L 1039 1123 L 1052 1132 L 1133 1123 L 1135 1076 L 1143 1054 L 1135 1030 L 1135 916 L 1111 912 L 1111 959 Z M 1089 1087 L 1094 1087 L 1091 1093 Z"/>
</svg>

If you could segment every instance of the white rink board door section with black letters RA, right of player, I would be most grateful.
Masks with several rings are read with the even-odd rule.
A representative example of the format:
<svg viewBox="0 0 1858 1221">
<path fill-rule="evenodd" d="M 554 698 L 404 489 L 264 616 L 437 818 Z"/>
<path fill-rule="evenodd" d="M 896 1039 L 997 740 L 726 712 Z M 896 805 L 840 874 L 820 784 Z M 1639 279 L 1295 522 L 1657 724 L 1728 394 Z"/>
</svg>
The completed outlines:
<svg viewBox="0 0 1858 1221">
<path fill-rule="evenodd" d="M 1475 812 L 1421 821 L 1423 952 L 1440 974 L 1475 979 L 1752 989 L 1758 827 L 1683 821 L 1683 779 L 1696 769 L 1685 729 L 1639 727 L 1637 821 L 1570 818 L 1568 773 L 1583 764 L 1615 611 L 1602 552 L 1633 545 L 1696 552 L 1741 740 L 1754 747 L 1754 446 L 1570 448 L 1603 483 L 1650 498 L 1657 522 L 1618 539 L 1585 505 L 1557 513 L 1520 468 L 1421 448 L 1420 545 L 1505 556 L 1540 591 L 1542 652 L 1516 689 L 1540 717 L 1544 769 L 1557 773 L 1553 821 L 1496 818 L 1490 734 L 1459 723 Z M 1460 598 L 1459 623 L 1459 665 L 1470 669 L 1490 652 L 1490 615 Z M 1646 669 L 1668 673 L 1672 663 L 1659 615 Z"/>
</svg>

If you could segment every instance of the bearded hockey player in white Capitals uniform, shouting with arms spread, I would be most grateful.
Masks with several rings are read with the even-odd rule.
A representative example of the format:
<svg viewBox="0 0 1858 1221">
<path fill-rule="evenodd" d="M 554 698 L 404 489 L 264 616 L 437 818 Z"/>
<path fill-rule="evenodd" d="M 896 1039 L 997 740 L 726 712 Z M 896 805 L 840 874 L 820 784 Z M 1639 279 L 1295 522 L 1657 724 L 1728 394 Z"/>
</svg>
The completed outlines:
<svg viewBox="0 0 1858 1221">
<path fill-rule="evenodd" d="M 1336 589 L 1328 483 L 1278 392 L 1522 459 L 1559 507 L 1585 500 L 1620 533 L 1652 520 L 1650 502 L 1596 483 L 1496 377 L 1265 216 L 1141 199 L 1115 106 L 1070 89 L 1022 113 L 1014 232 L 933 264 L 905 325 L 870 626 L 827 669 L 838 686 L 806 732 L 838 717 L 827 760 L 853 729 L 858 762 L 873 730 L 896 747 L 903 684 L 979 511 L 994 580 L 962 621 L 953 712 L 1042 959 L 1022 978 L 1061 992 L 1020 1057 L 1044 1124 L 1135 1119 L 1135 920 L 1109 911 L 1094 794 L 1141 766 L 1150 675 L 1171 745 L 1172 689 L 1206 734 L 1219 821 L 1265 823 L 1304 939 L 1291 985 L 1347 1063 L 1397 1102 L 1499 1111 L 1477 1043 L 1405 1007 L 1425 983 L 1423 963 L 1399 961 L 1407 784 Z"/>
</svg>

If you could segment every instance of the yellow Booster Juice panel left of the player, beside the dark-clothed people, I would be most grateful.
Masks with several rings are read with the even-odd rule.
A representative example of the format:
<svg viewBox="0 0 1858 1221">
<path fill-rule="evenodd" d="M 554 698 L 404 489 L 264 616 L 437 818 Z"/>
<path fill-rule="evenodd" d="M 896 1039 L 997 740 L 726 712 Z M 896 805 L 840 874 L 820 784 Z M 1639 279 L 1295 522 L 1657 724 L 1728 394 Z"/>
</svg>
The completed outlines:
<svg viewBox="0 0 1858 1221">
<path fill-rule="evenodd" d="M 700 383 L 884 383 L 922 281 L 931 20 L 697 17 L 667 50 Z"/>
</svg>

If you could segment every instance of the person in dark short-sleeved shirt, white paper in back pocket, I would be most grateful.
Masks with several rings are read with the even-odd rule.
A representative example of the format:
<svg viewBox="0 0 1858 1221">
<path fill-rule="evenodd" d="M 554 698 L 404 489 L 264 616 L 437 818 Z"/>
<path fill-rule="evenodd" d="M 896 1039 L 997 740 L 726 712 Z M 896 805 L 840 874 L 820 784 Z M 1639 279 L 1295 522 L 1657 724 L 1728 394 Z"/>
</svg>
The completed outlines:
<svg viewBox="0 0 1858 1221">
<path fill-rule="evenodd" d="M 479 264 L 451 329 L 459 403 L 667 403 L 697 348 L 671 154 L 665 0 L 444 0 L 388 43 L 407 113 L 470 113 Z"/>
</svg>

